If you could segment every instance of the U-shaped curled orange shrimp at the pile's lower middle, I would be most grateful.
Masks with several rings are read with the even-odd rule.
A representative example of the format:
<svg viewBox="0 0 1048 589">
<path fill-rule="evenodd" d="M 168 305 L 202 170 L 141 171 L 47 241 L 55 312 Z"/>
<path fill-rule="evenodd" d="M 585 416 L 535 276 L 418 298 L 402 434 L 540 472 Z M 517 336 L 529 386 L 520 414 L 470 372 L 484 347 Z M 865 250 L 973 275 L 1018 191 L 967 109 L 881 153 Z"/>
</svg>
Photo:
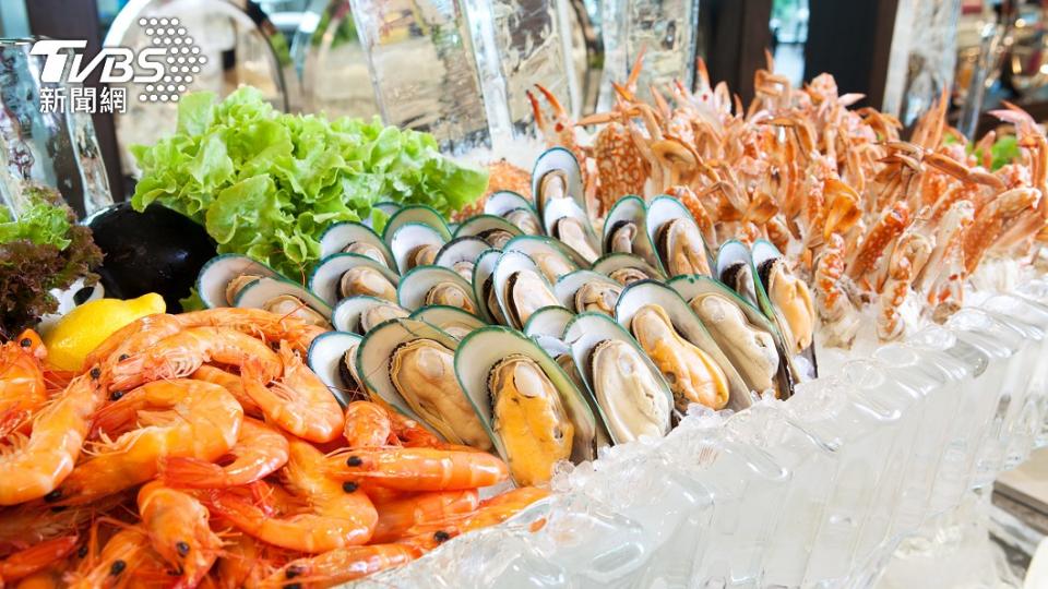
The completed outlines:
<svg viewBox="0 0 1048 589">
<path fill-rule="evenodd" d="M 327 552 L 366 543 L 378 515 L 356 485 L 345 485 L 324 473 L 324 455 L 307 442 L 289 440 L 290 458 L 282 470 L 299 505 L 284 501 L 273 515 L 237 490 L 218 491 L 210 507 L 240 530 L 281 548 Z M 255 484 L 264 484 L 262 481 Z"/>
</svg>

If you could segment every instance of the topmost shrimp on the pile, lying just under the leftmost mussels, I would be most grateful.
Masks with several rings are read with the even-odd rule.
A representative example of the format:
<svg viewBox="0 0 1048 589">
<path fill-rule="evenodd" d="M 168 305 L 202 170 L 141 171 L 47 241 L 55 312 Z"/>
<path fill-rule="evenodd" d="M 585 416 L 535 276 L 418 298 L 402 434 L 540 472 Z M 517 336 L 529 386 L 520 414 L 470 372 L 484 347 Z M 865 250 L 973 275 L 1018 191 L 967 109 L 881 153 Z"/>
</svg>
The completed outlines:
<svg viewBox="0 0 1048 589">
<path fill-rule="evenodd" d="M 325 329 L 305 321 L 261 309 L 222 308 L 178 315 L 186 327 L 226 327 L 266 341 L 287 341 L 299 353 L 308 353 L 313 338 Z"/>
</svg>

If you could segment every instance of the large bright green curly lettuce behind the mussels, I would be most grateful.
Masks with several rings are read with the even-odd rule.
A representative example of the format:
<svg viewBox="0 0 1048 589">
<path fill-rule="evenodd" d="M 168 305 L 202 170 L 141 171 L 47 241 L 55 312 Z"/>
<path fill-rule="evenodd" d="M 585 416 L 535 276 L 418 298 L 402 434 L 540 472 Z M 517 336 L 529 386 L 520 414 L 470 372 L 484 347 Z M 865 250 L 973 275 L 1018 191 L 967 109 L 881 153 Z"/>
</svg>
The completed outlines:
<svg viewBox="0 0 1048 589">
<path fill-rule="evenodd" d="M 202 224 L 219 252 L 286 276 L 319 261 L 324 229 L 370 218 L 380 201 L 449 216 L 488 182 L 487 172 L 443 157 L 429 134 L 378 119 L 282 113 L 252 87 L 221 103 L 184 96 L 175 134 L 131 151 L 142 169 L 135 209 L 159 202 Z"/>
</svg>

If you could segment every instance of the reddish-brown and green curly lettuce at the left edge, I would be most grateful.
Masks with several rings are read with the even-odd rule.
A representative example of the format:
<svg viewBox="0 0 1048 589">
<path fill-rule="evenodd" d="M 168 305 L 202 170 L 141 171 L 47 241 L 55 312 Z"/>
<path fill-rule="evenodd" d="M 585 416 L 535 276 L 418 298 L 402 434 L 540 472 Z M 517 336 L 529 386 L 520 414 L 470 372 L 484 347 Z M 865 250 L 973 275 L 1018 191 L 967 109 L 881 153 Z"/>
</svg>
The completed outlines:
<svg viewBox="0 0 1048 589">
<path fill-rule="evenodd" d="M 58 311 L 51 289 L 66 289 L 102 263 L 91 229 L 76 225 L 57 192 L 31 188 L 17 220 L 0 209 L 0 338 Z"/>
</svg>

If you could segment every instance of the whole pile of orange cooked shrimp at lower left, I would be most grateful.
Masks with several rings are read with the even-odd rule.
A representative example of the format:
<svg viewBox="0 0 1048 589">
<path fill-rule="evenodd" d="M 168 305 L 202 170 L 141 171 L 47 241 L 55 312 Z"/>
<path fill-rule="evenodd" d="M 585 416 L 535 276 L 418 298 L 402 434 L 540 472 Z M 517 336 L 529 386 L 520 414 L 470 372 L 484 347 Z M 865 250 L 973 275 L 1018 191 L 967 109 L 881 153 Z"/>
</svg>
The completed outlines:
<svg viewBox="0 0 1048 589">
<path fill-rule="evenodd" d="M 320 333 L 215 309 L 143 317 L 81 373 L 26 332 L 0 347 L 0 588 L 327 587 L 505 520 L 499 458 L 302 362 Z"/>
</svg>

